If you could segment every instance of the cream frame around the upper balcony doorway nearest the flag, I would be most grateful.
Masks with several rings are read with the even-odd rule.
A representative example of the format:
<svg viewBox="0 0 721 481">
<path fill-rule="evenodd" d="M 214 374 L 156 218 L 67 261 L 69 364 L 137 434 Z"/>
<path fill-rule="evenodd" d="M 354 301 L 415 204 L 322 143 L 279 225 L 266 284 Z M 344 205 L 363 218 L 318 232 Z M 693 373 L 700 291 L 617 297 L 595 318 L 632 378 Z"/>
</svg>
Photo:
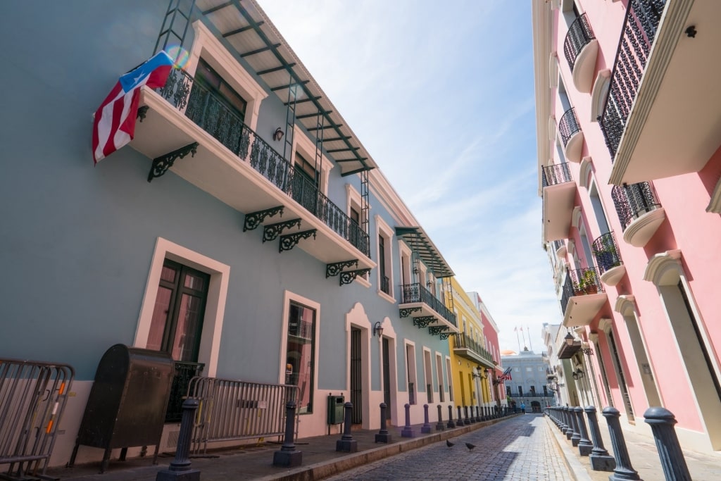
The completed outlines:
<svg viewBox="0 0 721 481">
<path fill-rule="evenodd" d="M 267 92 L 221 44 L 220 40 L 208 30 L 208 27 L 205 27 L 203 22 L 200 20 L 193 22 L 193 31 L 195 38 L 193 47 L 190 48 L 190 58 L 188 58 L 185 71 L 195 77 L 198 61 L 203 58 L 247 102 L 244 123 L 252 131 L 255 131 L 260 102 L 268 96 Z"/>
</svg>

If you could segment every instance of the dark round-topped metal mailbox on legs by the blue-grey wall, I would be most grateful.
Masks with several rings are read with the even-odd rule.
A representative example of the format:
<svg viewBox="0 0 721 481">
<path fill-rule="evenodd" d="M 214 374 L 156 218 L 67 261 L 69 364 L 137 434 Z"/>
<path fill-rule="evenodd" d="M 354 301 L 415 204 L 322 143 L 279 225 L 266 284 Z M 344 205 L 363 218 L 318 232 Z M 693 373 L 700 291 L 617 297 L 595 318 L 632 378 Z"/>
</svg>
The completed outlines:
<svg viewBox="0 0 721 481">
<path fill-rule="evenodd" d="M 110 452 L 155 446 L 156 461 L 172 384 L 173 360 L 167 353 L 116 344 L 105 351 L 95 372 L 70 466 L 79 445 L 105 449 L 101 472 Z"/>
</svg>

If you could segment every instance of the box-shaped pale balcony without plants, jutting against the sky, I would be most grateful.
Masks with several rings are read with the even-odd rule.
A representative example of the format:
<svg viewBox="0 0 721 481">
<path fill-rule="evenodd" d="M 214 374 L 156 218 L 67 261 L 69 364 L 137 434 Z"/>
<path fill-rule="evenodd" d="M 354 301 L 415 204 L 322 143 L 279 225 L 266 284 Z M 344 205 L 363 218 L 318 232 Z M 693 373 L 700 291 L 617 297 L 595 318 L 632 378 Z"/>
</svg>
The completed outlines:
<svg viewBox="0 0 721 481">
<path fill-rule="evenodd" d="M 567 163 L 542 169 L 544 241 L 565 239 L 571 226 L 576 185 L 572 182 Z"/>
</svg>

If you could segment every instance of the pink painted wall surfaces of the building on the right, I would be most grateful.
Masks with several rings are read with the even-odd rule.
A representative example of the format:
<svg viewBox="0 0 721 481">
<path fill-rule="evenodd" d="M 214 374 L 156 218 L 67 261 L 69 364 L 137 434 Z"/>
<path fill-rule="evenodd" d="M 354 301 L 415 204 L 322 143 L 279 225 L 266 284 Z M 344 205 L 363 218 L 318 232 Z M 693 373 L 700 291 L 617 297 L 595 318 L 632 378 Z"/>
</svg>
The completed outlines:
<svg viewBox="0 0 721 481">
<path fill-rule="evenodd" d="M 624 1 L 583 2 L 583 7 L 599 43 L 594 79 L 598 71 L 613 69 L 625 14 L 625 4 Z M 702 431 L 698 412 L 689 409 L 689 406 L 695 404 L 694 395 L 691 392 L 690 384 L 686 381 L 684 365 L 676 356 L 678 350 L 676 340 L 660 302 L 658 290 L 653 283 L 644 281 L 643 275 L 650 257 L 659 252 L 680 249 L 682 265 L 689 280 L 693 299 L 701 313 L 702 319 L 699 319 L 699 322 L 704 325 L 712 345 L 721 346 L 721 322 L 715 322 L 718 313 L 721 312 L 721 296 L 717 292 L 718 276 L 715 273 L 717 266 L 721 265 L 721 216 L 707 213 L 705 210 L 721 174 L 721 151 L 717 151 L 699 173 L 654 181 L 653 189 L 658 201 L 665 209 L 666 220 L 645 247 L 633 247 L 624 242 L 619 217 L 611 199 L 613 186 L 608 184 L 611 157 L 606 148 L 601 128 L 598 123 L 590 120 L 591 95 L 578 92 L 573 86 L 571 72 L 563 55 L 563 41 L 567 32 L 566 22 L 559 10 L 554 10 L 554 14 L 552 35 L 555 45 L 557 45 L 555 50 L 559 56 L 559 74 L 564 79 L 568 97 L 572 106 L 575 107 L 576 115 L 583 129 L 582 156 L 590 156 L 592 159 L 593 177 L 601 196 L 606 219 L 609 228 L 614 231 L 622 260 L 627 269 L 627 275 L 617 286 L 604 286 L 609 301 L 601 308 L 587 330 L 599 332 L 599 347 L 602 349 L 606 374 L 609 377 L 611 396 L 614 398 L 614 405 L 624 412 L 622 395 L 618 387 L 614 365 L 611 362 L 611 352 L 606 337 L 598 329 L 598 320 L 601 317 L 612 320 L 616 345 L 621 351 L 619 356 L 625 358 L 622 360 L 622 364 L 634 413 L 637 417 L 642 417 L 648 407 L 645 390 L 633 357 L 634 350 L 624 319 L 621 314 L 613 310 L 620 294 L 633 294 L 640 329 L 647 345 L 647 356 L 653 366 L 654 378 L 665 407 L 676 415 L 679 427 Z M 558 100 L 557 89 L 554 89 L 552 94 L 551 108 L 557 121 L 560 120 L 564 112 Z M 563 159 L 558 158 L 554 144 L 551 144 L 549 150 L 549 158 L 553 158 L 556 163 L 564 162 Z M 569 167 L 573 179 L 578 183 L 580 164 L 569 163 Z M 595 220 L 588 190 L 580 185 L 575 205 L 583 208 L 583 224 L 588 232 L 589 242 L 593 242 L 593 239 L 601 235 L 601 231 Z M 579 257 L 584 257 L 578 229 L 571 229 L 570 239 L 575 241 Z M 570 255 L 567 256 L 567 261 L 571 263 L 570 268 L 578 268 L 578 266 L 572 265 Z M 595 264 L 593 260 L 588 263 Z M 718 356 L 718 349 L 713 355 Z M 597 381 L 601 383 L 598 356 L 591 356 L 591 359 L 594 363 Z M 601 391 L 599 394 L 604 399 L 605 390 L 601 386 L 599 384 Z"/>
</svg>

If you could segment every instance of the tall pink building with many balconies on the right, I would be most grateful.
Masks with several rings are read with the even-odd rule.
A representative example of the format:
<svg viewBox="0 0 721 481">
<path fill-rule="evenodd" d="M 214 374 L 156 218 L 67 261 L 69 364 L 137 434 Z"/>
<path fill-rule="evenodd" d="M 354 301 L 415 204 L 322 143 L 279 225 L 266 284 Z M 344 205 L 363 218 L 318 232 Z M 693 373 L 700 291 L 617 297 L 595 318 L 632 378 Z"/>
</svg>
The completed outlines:
<svg viewBox="0 0 721 481">
<path fill-rule="evenodd" d="M 533 0 L 557 357 L 624 428 L 650 433 L 663 406 L 704 451 L 721 450 L 719 19 L 717 0 Z"/>
</svg>

